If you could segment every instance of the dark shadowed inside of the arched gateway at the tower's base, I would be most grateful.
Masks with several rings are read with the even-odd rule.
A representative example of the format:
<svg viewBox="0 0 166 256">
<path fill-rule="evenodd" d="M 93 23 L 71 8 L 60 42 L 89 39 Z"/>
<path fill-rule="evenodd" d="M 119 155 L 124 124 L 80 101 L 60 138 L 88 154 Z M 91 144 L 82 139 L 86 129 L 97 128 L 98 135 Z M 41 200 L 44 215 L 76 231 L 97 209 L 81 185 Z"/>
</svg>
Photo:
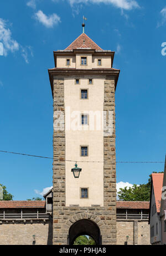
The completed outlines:
<svg viewBox="0 0 166 256">
<path fill-rule="evenodd" d="M 95 240 L 96 245 L 101 244 L 100 228 L 90 219 L 80 219 L 69 229 L 68 244 L 72 245 L 80 235 L 89 235 Z"/>
</svg>

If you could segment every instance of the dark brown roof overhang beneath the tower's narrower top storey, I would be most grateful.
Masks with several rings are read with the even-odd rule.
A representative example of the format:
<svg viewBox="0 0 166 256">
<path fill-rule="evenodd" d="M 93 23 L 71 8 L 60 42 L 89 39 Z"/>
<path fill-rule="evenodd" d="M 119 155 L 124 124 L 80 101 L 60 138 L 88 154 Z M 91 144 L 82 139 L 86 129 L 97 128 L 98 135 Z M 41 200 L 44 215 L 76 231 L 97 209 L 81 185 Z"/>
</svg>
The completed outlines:
<svg viewBox="0 0 166 256">
<path fill-rule="evenodd" d="M 54 68 L 48 69 L 49 78 L 50 78 L 50 85 L 53 95 L 54 90 L 54 76 L 65 77 L 65 76 L 106 76 L 106 79 L 114 79 L 115 80 L 115 90 L 117 86 L 117 81 L 120 75 L 119 69 L 71 69 L 71 68 Z"/>
</svg>

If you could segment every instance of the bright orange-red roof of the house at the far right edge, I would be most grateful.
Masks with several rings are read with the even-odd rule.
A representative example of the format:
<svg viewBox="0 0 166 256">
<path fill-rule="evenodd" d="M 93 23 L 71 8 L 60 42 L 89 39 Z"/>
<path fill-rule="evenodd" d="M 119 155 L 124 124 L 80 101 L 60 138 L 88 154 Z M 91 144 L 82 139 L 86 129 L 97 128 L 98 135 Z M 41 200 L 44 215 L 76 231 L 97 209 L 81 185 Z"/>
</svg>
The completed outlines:
<svg viewBox="0 0 166 256">
<path fill-rule="evenodd" d="M 160 212 L 163 178 L 164 178 L 164 173 L 152 173 L 152 182 L 153 182 L 154 197 L 155 197 L 157 212 Z"/>
</svg>

